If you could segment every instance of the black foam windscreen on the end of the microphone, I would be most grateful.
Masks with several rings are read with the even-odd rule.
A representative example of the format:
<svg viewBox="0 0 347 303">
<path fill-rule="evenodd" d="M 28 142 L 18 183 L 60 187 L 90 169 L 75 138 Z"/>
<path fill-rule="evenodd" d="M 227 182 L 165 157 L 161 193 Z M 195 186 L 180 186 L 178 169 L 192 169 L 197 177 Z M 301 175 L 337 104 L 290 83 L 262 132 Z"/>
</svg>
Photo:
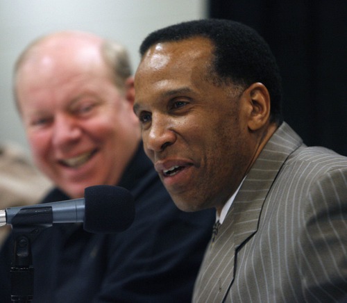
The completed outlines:
<svg viewBox="0 0 347 303">
<path fill-rule="evenodd" d="M 125 188 L 108 185 L 85 188 L 85 231 L 96 234 L 124 231 L 134 218 L 134 198 Z"/>
</svg>

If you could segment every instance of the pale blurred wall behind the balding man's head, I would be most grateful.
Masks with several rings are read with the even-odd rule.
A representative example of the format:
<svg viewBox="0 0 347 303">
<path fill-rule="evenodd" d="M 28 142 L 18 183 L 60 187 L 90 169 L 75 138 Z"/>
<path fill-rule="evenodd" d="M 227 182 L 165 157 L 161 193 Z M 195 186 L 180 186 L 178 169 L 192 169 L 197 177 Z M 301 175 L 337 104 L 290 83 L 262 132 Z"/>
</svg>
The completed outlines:
<svg viewBox="0 0 347 303">
<path fill-rule="evenodd" d="M 0 1 L 0 142 L 17 142 L 28 152 L 12 97 L 12 67 L 31 40 L 65 29 L 90 31 L 124 44 L 135 70 L 147 34 L 206 15 L 205 0 Z"/>
</svg>

